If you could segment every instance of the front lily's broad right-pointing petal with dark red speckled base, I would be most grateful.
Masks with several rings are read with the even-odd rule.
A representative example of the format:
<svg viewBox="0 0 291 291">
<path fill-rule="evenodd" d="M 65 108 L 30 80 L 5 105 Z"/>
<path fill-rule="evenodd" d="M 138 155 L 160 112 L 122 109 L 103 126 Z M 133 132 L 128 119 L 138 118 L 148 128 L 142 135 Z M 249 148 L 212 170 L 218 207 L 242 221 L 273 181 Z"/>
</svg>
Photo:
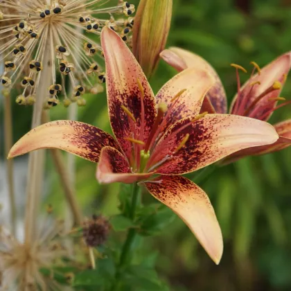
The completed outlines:
<svg viewBox="0 0 291 291">
<path fill-rule="evenodd" d="M 179 175 L 213 164 L 233 152 L 256 145 L 274 143 L 278 134 L 269 123 L 229 114 L 208 114 L 198 121 L 193 118 L 178 121 L 163 136 L 155 151 L 152 164 L 166 155 L 168 161 L 157 173 Z M 186 143 L 179 148 L 185 136 Z M 170 154 L 169 154 L 170 153 Z"/>
</svg>

